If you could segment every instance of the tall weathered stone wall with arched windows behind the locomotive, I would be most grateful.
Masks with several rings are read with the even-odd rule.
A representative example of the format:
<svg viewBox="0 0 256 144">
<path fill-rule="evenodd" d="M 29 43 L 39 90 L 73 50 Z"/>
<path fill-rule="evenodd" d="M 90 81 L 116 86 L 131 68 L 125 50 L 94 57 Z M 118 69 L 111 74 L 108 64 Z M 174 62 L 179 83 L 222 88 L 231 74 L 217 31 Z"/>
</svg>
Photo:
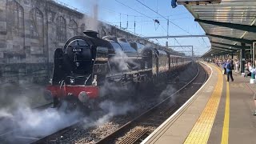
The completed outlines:
<svg viewBox="0 0 256 144">
<path fill-rule="evenodd" d="M 1 0 L 0 84 L 46 82 L 53 68 L 54 50 L 95 23 L 100 37 L 134 37 L 52 0 Z"/>
</svg>

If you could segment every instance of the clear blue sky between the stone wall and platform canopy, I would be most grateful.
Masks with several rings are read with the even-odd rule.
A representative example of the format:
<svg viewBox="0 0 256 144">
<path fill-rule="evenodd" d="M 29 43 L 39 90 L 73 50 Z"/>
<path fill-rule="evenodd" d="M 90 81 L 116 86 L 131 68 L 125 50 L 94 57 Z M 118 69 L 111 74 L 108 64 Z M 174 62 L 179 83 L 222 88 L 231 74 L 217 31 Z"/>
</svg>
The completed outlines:
<svg viewBox="0 0 256 144">
<path fill-rule="evenodd" d="M 146 8 L 137 0 L 56 0 L 65 2 L 69 6 L 73 6 L 78 10 L 82 10 L 86 14 L 92 14 L 92 9 L 95 3 L 98 3 L 98 18 L 111 25 L 120 25 L 123 28 L 142 36 L 166 36 L 167 35 L 167 20 L 170 20 L 169 35 L 188 35 L 188 34 L 205 34 L 198 22 L 194 22 L 194 17 L 184 6 L 172 8 L 171 0 L 138 0 L 150 7 Z M 125 4 L 123 6 L 121 3 Z M 130 8 L 134 9 L 130 9 Z M 135 11 L 137 10 L 137 11 Z M 160 16 L 161 14 L 162 16 Z M 128 17 L 127 17 L 128 15 Z M 155 23 L 153 19 L 158 19 L 160 25 Z M 128 27 L 127 27 L 128 21 Z M 178 26 L 175 26 L 178 25 Z M 182 28 L 182 29 L 181 29 Z M 204 40 L 203 40 L 204 39 Z M 166 41 L 169 46 L 194 46 L 194 53 L 202 55 L 209 50 L 210 42 L 208 38 L 169 38 L 169 39 L 152 39 L 154 42 L 165 46 Z M 174 48 L 178 51 L 190 51 L 189 47 Z"/>
</svg>

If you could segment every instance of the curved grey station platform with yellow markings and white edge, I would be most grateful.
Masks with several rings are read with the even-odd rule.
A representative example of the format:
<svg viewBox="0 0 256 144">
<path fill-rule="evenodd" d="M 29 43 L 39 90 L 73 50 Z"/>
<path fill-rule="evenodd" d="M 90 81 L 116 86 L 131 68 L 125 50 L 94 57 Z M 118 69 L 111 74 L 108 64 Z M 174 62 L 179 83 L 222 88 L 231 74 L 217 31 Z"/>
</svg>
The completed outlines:
<svg viewBox="0 0 256 144">
<path fill-rule="evenodd" d="M 207 82 L 142 144 L 256 143 L 256 84 L 233 72 L 234 82 L 215 64 Z"/>
</svg>

